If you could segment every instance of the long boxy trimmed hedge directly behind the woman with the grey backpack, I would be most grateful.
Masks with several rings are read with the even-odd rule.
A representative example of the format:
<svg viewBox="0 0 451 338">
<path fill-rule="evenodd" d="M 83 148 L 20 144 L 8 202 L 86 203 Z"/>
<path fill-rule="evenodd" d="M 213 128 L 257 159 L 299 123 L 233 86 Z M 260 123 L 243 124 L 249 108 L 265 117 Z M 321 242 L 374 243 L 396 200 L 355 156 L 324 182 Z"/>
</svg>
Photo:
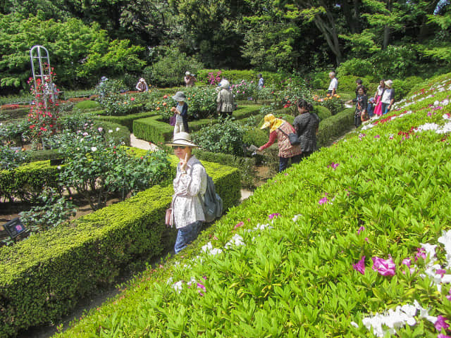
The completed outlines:
<svg viewBox="0 0 451 338">
<path fill-rule="evenodd" d="M 173 159 L 173 162 L 175 160 Z M 204 163 L 225 210 L 240 200 L 240 173 Z M 155 186 L 14 246 L 0 249 L 0 337 L 49 323 L 68 313 L 99 284 L 109 284 L 128 263 L 159 255 L 171 244 L 164 213 L 172 186 Z"/>
</svg>

